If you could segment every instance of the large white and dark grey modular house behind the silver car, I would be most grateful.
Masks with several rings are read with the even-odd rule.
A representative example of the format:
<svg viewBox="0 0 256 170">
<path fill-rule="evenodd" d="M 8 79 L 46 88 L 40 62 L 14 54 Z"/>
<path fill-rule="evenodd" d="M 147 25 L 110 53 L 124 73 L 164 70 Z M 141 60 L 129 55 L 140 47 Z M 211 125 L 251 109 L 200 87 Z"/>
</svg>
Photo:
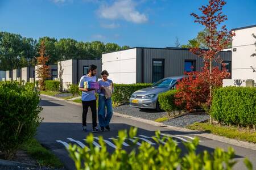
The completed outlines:
<svg viewBox="0 0 256 170">
<path fill-rule="evenodd" d="M 229 71 L 231 55 L 230 51 L 220 52 Z M 203 59 L 187 48 L 135 47 L 102 54 L 102 70 L 109 71 L 109 79 L 114 83 L 123 84 L 154 83 L 185 71 L 199 71 L 203 65 Z M 222 67 L 220 63 L 213 65 Z"/>
</svg>

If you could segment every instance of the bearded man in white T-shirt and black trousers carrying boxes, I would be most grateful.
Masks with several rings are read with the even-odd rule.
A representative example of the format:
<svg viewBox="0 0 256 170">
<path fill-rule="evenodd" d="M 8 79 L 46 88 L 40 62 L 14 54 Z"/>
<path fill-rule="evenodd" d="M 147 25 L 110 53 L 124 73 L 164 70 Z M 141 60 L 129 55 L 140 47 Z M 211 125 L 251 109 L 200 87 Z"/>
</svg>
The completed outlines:
<svg viewBox="0 0 256 170">
<path fill-rule="evenodd" d="M 92 111 L 92 124 L 93 132 L 100 131 L 97 128 L 97 109 L 96 109 L 96 93 L 95 90 L 84 88 L 84 82 L 96 82 L 97 66 L 90 65 L 89 73 L 80 79 L 79 90 L 82 91 L 82 130 L 86 131 L 86 116 L 88 108 Z"/>
</svg>

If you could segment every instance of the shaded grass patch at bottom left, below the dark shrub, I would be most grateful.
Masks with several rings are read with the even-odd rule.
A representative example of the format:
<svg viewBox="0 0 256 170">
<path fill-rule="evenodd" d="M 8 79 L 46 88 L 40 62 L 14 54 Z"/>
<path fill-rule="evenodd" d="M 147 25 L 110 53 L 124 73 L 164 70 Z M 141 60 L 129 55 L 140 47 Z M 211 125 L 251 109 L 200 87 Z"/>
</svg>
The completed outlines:
<svg viewBox="0 0 256 170">
<path fill-rule="evenodd" d="M 32 139 L 26 145 L 23 145 L 22 150 L 26 151 L 41 166 L 53 168 L 64 167 L 63 163 L 52 152 L 40 145 L 36 139 Z"/>
</svg>

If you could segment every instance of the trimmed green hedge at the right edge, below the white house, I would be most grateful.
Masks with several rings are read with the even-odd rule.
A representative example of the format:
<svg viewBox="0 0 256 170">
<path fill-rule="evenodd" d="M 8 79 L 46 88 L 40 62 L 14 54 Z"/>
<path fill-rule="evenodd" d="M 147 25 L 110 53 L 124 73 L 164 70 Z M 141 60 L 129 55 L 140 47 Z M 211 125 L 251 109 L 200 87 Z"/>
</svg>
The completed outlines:
<svg viewBox="0 0 256 170">
<path fill-rule="evenodd" d="M 214 90 L 210 115 L 227 125 L 256 125 L 256 88 L 223 87 Z"/>
</svg>

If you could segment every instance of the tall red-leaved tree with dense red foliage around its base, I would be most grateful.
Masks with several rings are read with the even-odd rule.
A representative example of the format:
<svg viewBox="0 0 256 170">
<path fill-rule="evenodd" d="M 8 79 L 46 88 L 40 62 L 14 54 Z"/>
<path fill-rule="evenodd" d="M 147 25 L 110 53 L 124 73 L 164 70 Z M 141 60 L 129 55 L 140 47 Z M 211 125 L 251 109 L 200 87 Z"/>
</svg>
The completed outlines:
<svg viewBox="0 0 256 170">
<path fill-rule="evenodd" d="M 209 108 L 214 87 L 222 86 L 222 80 L 230 76 L 224 68 L 213 67 L 213 62 L 221 63 L 220 51 L 225 49 L 232 41 L 234 33 L 226 29 L 222 23 L 227 20 L 222 14 L 222 7 L 226 4 L 223 0 L 209 0 L 207 6 L 201 6 L 201 16 L 195 13 L 195 23 L 203 25 L 209 30 L 205 36 L 207 49 L 191 48 L 190 51 L 204 59 L 204 67 L 200 72 L 187 73 L 188 78 L 177 84 L 176 104 L 185 104 L 188 111 L 196 108 Z"/>
</svg>

